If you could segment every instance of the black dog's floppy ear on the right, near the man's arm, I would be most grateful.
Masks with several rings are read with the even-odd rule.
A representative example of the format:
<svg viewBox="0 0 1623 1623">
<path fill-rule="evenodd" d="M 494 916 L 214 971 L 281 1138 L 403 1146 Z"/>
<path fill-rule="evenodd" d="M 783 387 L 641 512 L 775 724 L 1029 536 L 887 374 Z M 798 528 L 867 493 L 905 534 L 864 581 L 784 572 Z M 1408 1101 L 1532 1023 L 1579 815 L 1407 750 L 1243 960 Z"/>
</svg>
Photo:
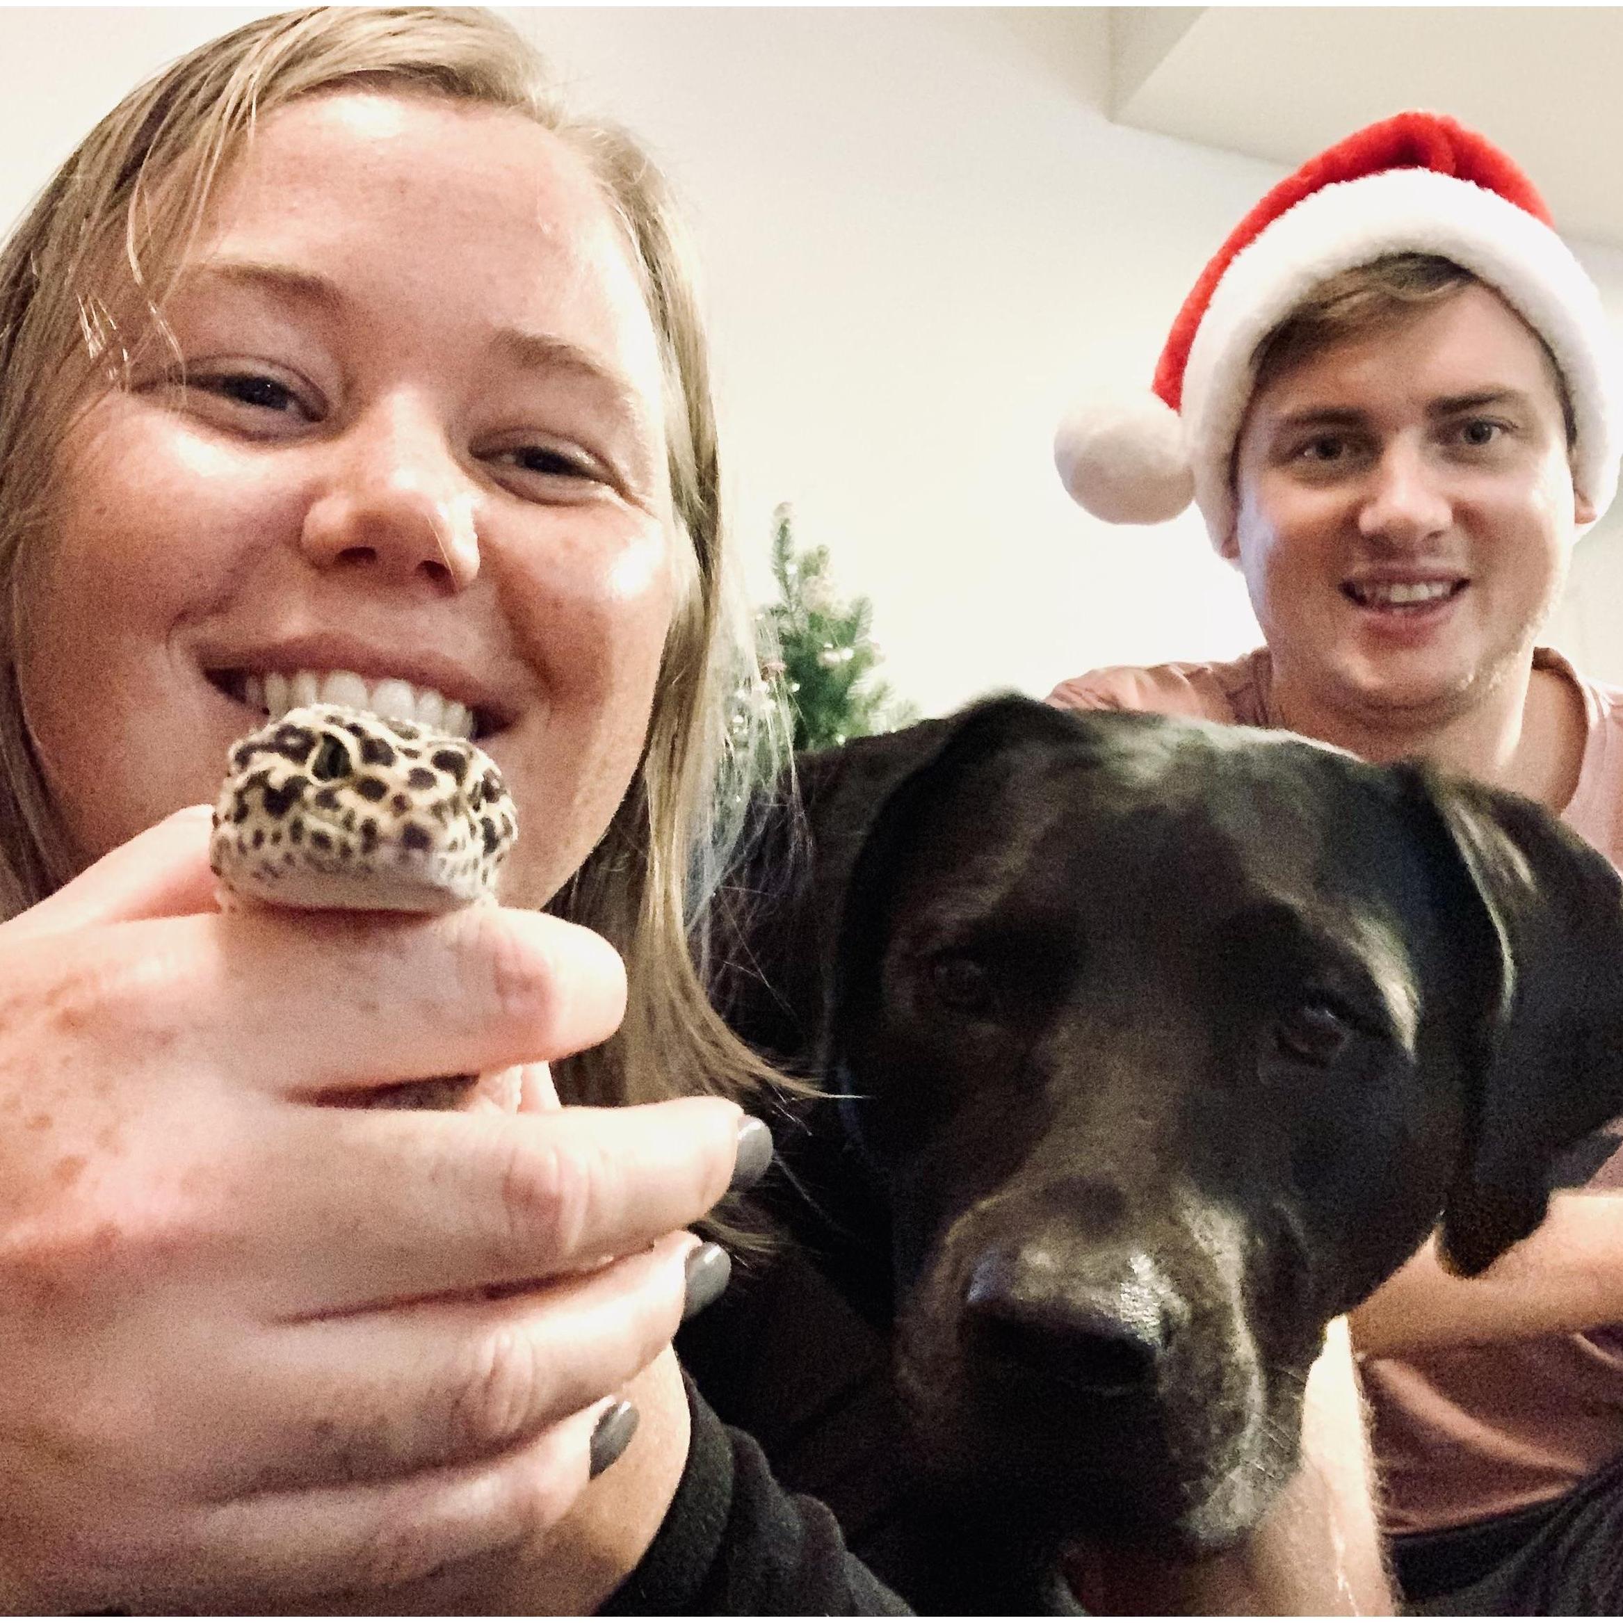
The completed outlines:
<svg viewBox="0 0 1623 1623">
<path fill-rule="evenodd" d="M 1444 1264 L 1469 1276 L 1539 1227 L 1563 1156 L 1623 1113 L 1623 883 L 1534 802 L 1404 771 L 1475 912 L 1456 940 L 1477 940 L 1485 1019 L 1441 1230 Z"/>
</svg>

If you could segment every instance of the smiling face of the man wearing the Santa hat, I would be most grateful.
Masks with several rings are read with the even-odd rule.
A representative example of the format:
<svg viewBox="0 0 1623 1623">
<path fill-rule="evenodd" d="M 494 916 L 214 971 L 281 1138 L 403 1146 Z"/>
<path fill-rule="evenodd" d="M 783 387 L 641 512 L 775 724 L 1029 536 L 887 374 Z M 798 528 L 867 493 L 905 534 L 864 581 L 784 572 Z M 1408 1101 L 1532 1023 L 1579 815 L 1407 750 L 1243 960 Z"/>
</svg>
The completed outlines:
<svg viewBox="0 0 1623 1623">
<path fill-rule="evenodd" d="M 1258 390 L 1235 484 L 1281 693 L 1376 722 L 1444 722 L 1526 661 L 1594 518 L 1550 362 L 1480 284 Z"/>
</svg>

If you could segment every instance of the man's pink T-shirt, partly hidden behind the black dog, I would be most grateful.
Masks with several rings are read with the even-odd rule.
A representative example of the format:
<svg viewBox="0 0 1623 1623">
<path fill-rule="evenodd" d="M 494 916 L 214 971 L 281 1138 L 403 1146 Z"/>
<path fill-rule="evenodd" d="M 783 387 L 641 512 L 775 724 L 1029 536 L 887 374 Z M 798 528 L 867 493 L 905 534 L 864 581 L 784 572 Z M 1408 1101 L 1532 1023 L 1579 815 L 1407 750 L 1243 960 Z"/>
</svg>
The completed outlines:
<svg viewBox="0 0 1623 1623">
<path fill-rule="evenodd" d="M 1579 677 L 1556 652 L 1534 665 L 1573 682 L 1589 740 L 1565 821 L 1623 868 L 1623 688 Z M 1117 665 L 1061 682 L 1063 709 L 1138 709 L 1276 727 L 1261 648 L 1227 664 Z M 1623 1152 L 1589 1188 L 1623 1190 Z M 1457 1527 L 1555 1498 L 1623 1457 L 1623 1326 L 1365 1358 L 1389 1532 Z"/>
</svg>

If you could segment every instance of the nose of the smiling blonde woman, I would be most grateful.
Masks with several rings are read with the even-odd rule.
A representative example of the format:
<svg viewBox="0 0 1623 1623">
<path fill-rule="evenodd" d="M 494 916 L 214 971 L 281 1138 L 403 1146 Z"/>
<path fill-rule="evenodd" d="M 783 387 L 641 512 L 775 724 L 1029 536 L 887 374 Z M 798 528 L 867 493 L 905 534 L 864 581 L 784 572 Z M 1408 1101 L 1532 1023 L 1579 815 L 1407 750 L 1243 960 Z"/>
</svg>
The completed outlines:
<svg viewBox="0 0 1623 1623">
<path fill-rule="evenodd" d="M 479 492 L 433 414 L 385 403 L 331 446 L 300 547 L 320 568 L 463 591 L 479 575 Z"/>
</svg>

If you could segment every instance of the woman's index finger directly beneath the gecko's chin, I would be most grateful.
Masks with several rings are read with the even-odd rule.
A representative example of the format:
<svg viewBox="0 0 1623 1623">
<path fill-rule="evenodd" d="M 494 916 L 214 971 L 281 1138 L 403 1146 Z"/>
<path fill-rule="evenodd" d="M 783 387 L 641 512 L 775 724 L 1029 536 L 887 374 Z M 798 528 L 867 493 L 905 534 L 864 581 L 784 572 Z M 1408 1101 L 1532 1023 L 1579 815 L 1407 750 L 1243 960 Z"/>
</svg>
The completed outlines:
<svg viewBox="0 0 1623 1623">
<path fill-rule="evenodd" d="M 104 936 L 83 982 L 120 1040 L 276 1096 L 555 1060 L 602 1042 L 625 1013 L 620 954 L 521 909 L 428 919 L 278 907 Z"/>
</svg>

